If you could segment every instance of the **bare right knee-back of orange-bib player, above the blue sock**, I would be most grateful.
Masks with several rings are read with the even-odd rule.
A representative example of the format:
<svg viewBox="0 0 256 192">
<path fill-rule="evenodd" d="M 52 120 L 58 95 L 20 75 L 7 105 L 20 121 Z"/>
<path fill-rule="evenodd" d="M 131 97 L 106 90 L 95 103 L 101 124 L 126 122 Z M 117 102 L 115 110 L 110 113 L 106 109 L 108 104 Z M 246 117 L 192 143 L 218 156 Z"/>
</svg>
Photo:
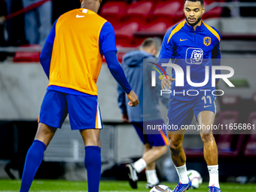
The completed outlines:
<svg viewBox="0 0 256 192">
<path fill-rule="evenodd" d="M 84 146 L 98 146 L 101 148 L 101 142 L 99 139 L 101 130 L 86 129 L 80 130 L 81 136 L 84 140 Z"/>
</svg>

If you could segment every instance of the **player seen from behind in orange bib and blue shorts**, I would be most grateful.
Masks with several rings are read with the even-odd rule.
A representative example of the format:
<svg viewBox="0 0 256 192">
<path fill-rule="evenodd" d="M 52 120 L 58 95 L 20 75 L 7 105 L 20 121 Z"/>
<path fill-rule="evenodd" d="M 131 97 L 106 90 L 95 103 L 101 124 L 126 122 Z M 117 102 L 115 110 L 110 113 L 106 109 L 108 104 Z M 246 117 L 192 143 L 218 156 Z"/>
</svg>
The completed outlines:
<svg viewBox="0 0 256 192">
<path fill-rule="evenodd" d="M 49 78 L 49 87 L 41 105 L 35 141 L 26 155 L 21 192 L 29 191 L 44 151 L 68 113 L 72 130 L 80 130 L 84 140 L 88 191 L 99 191 L 102 120 L 96 81 L 102 55 L 130 99 L 129 105 L 139 103 L 117 62 L 114 29 L 96 14 L 100 2 L 81 0 L 80 9 L 69 11 L 56 20 L 44 44 L 40 61 Z"/>
</svg>

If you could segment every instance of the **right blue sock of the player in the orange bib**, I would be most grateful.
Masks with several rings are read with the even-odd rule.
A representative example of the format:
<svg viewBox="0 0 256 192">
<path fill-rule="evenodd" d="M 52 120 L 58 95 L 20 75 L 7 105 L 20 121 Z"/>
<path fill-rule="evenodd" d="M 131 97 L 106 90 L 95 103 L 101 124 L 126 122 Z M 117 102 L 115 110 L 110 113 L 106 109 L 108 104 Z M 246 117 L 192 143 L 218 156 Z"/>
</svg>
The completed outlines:
<svg viewBox="0 0 256 192">
<path fill-rule="evenodd" d="M 100 172 L 102 170 L 100 151 L 97 146 L 85 147 L 84 166 L 87 169 L 88 192 L 99 192 Z"/>
</svg>

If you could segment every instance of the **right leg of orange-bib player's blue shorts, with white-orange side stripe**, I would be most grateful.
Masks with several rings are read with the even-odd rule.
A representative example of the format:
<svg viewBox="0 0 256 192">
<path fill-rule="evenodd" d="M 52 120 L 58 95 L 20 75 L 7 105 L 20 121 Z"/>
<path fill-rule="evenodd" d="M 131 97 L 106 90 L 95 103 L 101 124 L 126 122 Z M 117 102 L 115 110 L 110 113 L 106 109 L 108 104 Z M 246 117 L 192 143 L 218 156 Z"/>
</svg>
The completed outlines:
<svg viewBox="0 0 256 192">
<path fill-rule="evenodd" d="M 72 130 L 102 129 L 97 96 L 66 96 Z"/>
</svg>

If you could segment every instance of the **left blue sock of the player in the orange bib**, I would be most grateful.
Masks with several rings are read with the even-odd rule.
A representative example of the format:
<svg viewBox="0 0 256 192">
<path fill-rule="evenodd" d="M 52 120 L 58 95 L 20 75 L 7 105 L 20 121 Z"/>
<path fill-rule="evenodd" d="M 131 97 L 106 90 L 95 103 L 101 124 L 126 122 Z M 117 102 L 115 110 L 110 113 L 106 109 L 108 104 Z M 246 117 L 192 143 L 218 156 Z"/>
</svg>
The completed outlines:
<svg viewBox="0 0 256 192">
<path fill-rule="evenodd" d="M 43 142 L 34 140 L 28 153 L 26 154 L 25 165 L 23 169 L 23 178 L 21 181 L 20 192 L 28 192 L 35 177 L 35 172 L 41 164 L 44 157 L 46 145 Z"/>
</svg>

